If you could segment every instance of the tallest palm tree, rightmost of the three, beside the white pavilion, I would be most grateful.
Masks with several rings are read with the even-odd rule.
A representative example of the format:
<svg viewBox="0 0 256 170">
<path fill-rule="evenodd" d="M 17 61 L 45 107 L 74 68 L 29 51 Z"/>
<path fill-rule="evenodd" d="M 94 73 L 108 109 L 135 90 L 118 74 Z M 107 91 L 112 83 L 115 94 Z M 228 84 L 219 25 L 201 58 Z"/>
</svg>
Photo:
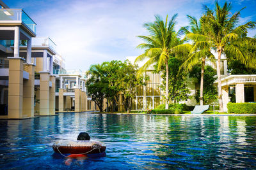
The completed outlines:
<svg viewBox="0 0 256 170">
<path fill-rule="evenodd" d="M 231 4 L 225 2 L 221 7 L 216 1 L 215 11 L 205 8 L 205 34 L 189 33 L 189 39 L 196 40 L 196 47 L 211 46 L 218 53 L 217 75 L 218 75 L 218 98 L 220 111 L 223 111 L 222 92 L 221 92 L 221 74 L 220 61 L 221 54 L 229 57 L 232 55 L 236 59 L 241 60 L 244 64 L 250 59 L 248 53 L 244 53 L 244 48 L 239 48 L 239 44 L 250 44 L 250 38 L 244 37 L 248 29 L 255 28 L 255 22 L 247 22 L 246 24 L 237 26 L 240 17 L 240 11 L 230 16 Z M 243 10 L 243 9 L 242 9 Z M 228 54 L 228 55 L 227 55 Z"/>
</svg>

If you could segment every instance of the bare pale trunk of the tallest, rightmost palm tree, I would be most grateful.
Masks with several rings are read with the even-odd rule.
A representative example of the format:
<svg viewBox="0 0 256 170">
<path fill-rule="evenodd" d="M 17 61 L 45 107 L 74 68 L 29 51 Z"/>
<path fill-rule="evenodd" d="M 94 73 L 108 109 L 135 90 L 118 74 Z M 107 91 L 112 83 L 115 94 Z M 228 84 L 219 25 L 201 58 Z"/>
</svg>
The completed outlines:
<svg viewBox="0 0 256 170">
<path fill-rule="evenodd" d="M 217 76 L 218 76 L 218 98 L 220 105 L 220 112 L 223 112 L 222 103 L 222 89 L 221 89 L 221 76 L 220 76 L 220 57 L 221 57 L 221 47 L 218 48 L 218 62 L 217 62 Z"/>
</svg>

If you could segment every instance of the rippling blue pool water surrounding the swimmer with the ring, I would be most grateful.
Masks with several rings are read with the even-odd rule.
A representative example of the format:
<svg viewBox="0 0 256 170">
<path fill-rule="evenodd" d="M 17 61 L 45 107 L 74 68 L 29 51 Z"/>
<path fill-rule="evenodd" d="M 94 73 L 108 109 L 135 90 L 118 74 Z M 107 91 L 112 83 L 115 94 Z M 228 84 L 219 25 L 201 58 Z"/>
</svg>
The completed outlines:
<svg viewBox="0 0 256 170">
<path fill-rule="evenodd" d="M 256 169 L 256 117 L 60 113 L 0 120 L 0 169 Z M 70 166 L 52 143 L 79 132 L 106 155 Z"/>
</svg>

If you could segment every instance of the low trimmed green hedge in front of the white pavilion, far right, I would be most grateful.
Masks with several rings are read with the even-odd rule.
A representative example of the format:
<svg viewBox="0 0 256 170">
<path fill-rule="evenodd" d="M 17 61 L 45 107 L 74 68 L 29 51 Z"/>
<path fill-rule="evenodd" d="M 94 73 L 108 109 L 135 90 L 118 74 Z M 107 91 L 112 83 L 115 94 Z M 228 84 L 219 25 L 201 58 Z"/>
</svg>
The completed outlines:
<svg viewBox="0 0 256 170">
<path fill-rule="evenodd" d="M 256 113 L 256 103 L 228 103 L 228 113 Z"/>
</svg>

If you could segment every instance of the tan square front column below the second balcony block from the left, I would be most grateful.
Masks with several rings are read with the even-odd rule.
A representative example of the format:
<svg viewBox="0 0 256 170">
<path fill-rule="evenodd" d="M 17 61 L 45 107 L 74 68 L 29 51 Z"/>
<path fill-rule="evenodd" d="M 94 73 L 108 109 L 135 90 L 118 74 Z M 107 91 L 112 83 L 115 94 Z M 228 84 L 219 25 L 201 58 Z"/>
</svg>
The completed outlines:
<svg viewBox="0 0 256 170">
<path fill-rule="evenodd" d="M 40 72 L 40 116 L 50 115 L 50 74 L 49 72 Z"/>
</svg>

